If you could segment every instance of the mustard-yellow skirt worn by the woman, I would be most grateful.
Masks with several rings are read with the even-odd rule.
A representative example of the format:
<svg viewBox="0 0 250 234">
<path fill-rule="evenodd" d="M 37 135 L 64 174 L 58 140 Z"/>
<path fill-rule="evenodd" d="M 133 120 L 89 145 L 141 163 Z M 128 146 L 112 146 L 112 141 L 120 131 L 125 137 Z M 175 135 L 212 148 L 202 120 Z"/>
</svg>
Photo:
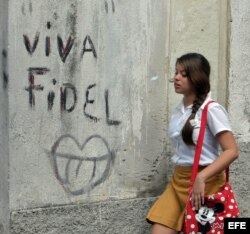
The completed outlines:
<svg viewBox="0 0 250 234">
<path fill-rule="evenodd" d="M 199 171 L 204 167 L 200 167 Z M 176 166 L 165 191 L 151 207 L 147 221 L 159 223 L 176 231 L 181 231 L 184 221 L 185 206 L 190 185 L 192 167 Z M 205 194 L 218 192 L 226 182 L 225 173 L 221 172 L 206 181 Z"/>
</svg>

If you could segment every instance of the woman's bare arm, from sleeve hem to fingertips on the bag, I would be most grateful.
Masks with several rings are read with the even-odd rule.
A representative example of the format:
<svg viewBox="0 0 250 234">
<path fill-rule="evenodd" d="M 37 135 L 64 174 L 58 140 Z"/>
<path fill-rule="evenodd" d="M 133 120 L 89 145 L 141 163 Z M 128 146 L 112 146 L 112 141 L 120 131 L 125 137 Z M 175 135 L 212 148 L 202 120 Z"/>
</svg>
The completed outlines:
<svg viewBox="0 0 250 234">
<path fill-rule="evenodd" d="M 225 170 L 239 155 L 232 132 L 220 132 L 216 135 L 216 139 L 221 146 L 222 153 L 212 164 L 204 168 L 196 176 L 192 191 L 192 202 L 196 209 L 204 203 L 206 180 Z"/>
</svg>

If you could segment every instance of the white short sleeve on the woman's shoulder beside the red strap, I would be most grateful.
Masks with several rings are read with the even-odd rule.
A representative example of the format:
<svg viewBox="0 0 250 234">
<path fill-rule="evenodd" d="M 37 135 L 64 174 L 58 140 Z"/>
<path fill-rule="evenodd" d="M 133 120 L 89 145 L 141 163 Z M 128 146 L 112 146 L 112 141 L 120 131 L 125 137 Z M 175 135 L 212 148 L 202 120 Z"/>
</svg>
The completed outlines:
<svg viewBox="0 0 250 234">
<path fill-rule="evenodd" d="M 232 131 L 228 113 L 218 103 L 214 103 L 208 108 L 207 123 L 214 136 L 222 131 Z"/>
</svg>

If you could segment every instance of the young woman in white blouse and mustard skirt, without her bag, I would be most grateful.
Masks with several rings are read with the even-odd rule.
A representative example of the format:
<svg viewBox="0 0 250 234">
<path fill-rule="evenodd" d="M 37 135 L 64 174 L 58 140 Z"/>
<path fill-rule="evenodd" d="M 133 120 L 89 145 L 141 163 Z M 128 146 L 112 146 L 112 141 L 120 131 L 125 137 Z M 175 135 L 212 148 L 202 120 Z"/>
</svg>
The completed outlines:
<svg viewBox="0 0 250 234">
<path fill-rule="evenodd" d="M 175 146 L 172 156 L 175 168 L 166 190 L 147 215 L 147 220 L 153 224 L 152 234 L 176 234 L 182 230 L 201 113 L 211 100 L 209 75 L 209 62 L 201 54 L 185 54 L 176 61 L 173 83 L 175 92 L 182 94 L 183 99 L 170 119 L 168 131 Z M 222 188 L 224 170 L 237 157 L 227 112 L 213 102 L 208 108 L 199 172 L 192 191 L 192 203 L 197 210 L 205 195 Z"/>
</svg>

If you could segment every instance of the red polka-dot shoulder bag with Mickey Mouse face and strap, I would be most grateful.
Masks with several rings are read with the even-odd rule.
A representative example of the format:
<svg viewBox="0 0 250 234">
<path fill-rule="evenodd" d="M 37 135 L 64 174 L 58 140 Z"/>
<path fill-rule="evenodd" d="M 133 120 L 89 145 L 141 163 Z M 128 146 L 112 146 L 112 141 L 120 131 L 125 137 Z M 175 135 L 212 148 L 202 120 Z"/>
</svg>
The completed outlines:
<svg viewBox="0 0 250 234">
<path fill-rule="evenodd" d="M 195 208 L 192 207 L 191 191 L 199 167 L 200 154 L 207 122 L 207 110 L 208 105 L 211 102 L 213 101 L 210 101 L 206 104 L 202 112 L 200 133 L 195 150 L 194 165 L 190 180 L 191 185 L 189 188 L 189 195 L 184 217 L 184 234 L 223 234 L 224 219 L 236 218 L 239 216 L 239 208 L 232 187 L 229 184 L 229 168 L 226 169 L 226 183 L 221 191 L 205 196 L 205 202 L 199 208 L 199 210 L 195 210 Z"/>
</svg>

